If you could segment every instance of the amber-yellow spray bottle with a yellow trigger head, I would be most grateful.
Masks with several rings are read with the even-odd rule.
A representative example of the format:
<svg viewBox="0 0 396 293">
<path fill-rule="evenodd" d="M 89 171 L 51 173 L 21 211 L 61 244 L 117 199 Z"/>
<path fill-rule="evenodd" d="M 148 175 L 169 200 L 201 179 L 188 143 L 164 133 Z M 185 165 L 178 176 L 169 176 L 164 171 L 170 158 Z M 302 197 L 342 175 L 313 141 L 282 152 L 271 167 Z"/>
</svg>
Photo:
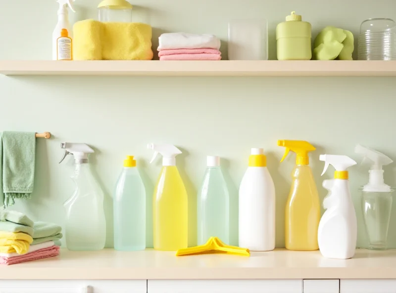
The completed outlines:
<svg viewBox="0 0 396 293">
<path fill-rule="evenodd" d="M 320 201 L 318 190 L 309 167 L 308 152 L 315 150 L 305 141 L 278 141 L 286 147 L 281 162 L 289 151 L 296 153 L 296 166 L 292 172 L 292 188 L 286 202 L 285 240 L 289 250 L 317 250 Z"/>
</svg>

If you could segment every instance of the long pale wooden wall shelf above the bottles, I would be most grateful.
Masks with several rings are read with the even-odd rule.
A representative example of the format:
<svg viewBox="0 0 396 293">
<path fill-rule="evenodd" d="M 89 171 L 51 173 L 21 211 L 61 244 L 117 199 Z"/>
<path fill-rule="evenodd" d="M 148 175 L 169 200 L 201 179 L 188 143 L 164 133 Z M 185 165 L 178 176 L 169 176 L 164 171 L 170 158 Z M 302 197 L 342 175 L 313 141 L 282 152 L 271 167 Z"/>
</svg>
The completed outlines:
<svg viewBox="0 0 396 293">
<path fill-rule="evenodd" d="M 0 61 L 3 75 L 396 76 L 396 61 Z"/>
</svg>

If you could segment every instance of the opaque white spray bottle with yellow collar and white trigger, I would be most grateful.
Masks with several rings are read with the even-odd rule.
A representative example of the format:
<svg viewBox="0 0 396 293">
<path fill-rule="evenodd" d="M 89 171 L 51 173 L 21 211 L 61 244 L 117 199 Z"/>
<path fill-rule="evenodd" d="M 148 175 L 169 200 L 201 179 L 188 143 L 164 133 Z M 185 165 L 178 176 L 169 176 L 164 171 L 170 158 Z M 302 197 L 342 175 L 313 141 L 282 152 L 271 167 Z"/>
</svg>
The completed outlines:
<svg viewBox="0 0 396 293">
<path fill-rule="evenodd" d="M 319 159 L 325 162 L 322 175 L 329 165 L 336 168 L 334 179 L 323 181 L 323 187 L 329 194 L 323 200 L 326 211 L 319 223 L 319 249 L 327 258 L 351 258 L 356 249 L 357 221 L 347 168 L 356 162 L 345 155 L 322 154 Z"/>
</svg>

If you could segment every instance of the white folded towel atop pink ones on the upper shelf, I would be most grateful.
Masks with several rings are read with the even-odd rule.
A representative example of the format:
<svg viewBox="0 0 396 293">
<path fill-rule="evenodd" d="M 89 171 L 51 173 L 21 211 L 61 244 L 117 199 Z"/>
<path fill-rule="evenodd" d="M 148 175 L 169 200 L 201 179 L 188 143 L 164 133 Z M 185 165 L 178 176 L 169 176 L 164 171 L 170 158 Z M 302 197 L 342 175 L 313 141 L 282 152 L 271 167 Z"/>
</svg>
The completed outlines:
<svg viewBox="0 0 396 293">
<path fill-rule="evenodd" d="M 220 49 L 220 40 L 214 35 L 167 33 L 159 37 L 158 51 L 169 49 Z"/>
</svg>

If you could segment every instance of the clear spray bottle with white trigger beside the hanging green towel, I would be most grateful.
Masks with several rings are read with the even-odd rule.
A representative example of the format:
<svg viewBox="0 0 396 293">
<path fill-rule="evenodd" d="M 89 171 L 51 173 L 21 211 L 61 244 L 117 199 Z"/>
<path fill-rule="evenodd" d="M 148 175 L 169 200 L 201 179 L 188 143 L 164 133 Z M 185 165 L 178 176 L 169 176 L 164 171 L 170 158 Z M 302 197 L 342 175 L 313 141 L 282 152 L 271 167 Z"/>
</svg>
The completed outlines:
<svg viewBox="0 0 396 293">
<path fill-rule="evenodd" d="M 66 246 L 69 250 L 100 250 L 106 241 L 106 221 L 103 211 L 103 191 L 95 180 L 88 154 L 94 150 L 86 144 L 62 143 L 65 149 L 61 163 L 68 154 L 74 155 L 75 183 L 73 195 L 64 203 L 66 208 Z"/>
</svg>

